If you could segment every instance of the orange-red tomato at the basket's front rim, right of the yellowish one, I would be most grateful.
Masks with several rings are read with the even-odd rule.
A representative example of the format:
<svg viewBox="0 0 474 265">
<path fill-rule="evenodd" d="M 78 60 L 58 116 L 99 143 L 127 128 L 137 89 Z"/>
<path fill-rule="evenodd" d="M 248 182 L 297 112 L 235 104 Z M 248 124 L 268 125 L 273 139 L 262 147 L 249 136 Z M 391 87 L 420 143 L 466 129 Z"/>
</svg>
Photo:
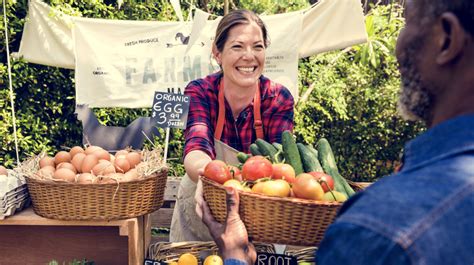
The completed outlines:
<svg viewBox="0 0 474 265">
<path fill-rule="evenodd" d="M 301 173 L 293 183 L 293 192 L 297 198 L 322 200 L 324 191 L 319 182 L 308 173 Z"/>
</svg>

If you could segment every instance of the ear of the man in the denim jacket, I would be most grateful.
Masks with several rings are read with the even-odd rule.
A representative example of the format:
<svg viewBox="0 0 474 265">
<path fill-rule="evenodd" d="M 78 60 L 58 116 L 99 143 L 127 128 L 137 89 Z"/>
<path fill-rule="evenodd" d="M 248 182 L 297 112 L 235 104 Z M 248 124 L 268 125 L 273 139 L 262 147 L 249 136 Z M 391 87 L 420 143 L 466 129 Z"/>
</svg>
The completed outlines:
<svg viewBox="0 0 474 265">
<path fill-rule="evenodd" d="M 466 41 L 466 31 L 458 17 L 451 12 L 440 16 L 437 30 L 438 54 L 436 63 L 443 65 L 455 60 L 461 53 Z"/>
</svg>

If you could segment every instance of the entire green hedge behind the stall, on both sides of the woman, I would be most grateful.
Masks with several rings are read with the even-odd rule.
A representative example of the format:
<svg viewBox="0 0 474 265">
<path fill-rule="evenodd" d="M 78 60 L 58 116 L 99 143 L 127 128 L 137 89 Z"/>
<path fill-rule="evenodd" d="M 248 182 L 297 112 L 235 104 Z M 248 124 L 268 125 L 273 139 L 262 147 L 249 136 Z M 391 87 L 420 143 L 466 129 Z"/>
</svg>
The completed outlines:
<svg viewBox="0 0 474 265">
<path fill-rule="evenodd" d="M 45 1 L 61 11 L 84 17 L 130 20 L 177 20 L 168 0 Z M 216 15 L 222 15 L 222 1 L 198 1 Z M 18 51 L 27 1 L 7 2 L 10 52 Z M 248 8 L 258 13 L 278 13 L 308 6 L 307 1 L 233 1 L 231 8 Z M 189 6 L 184 4 L 187 16 Z M 2 10 L 3 12 L 3 10 Z M 314 88 L 296 107 L 295 134 L 300 141 L 315 142 L 327 137 L 336 152 L 342 173 L 354 180 L 374 180 L 392 170 L 403 144 L 423 127 L 406 123 L 395 113 L 399 76 L 393 47 L 401 27 L 397 6 L 372 9 L 368 20 L 369 44 L 344 51 L 321 54 L 300 61 L 300 90 Z M 3 17 L 3 14 L 2 14 Z M 15 164 L 4 24 L 0 26 L 0 164 Z M 52 154 L 81 143 L 81 124 L 74 115 L 74 72 L 67 69 L 12 62 L 17 136 L 21 160 L 42 150 Z M 95 109 L 104 125 L 126 126 L 149 109 Z M 169 157 L 173 174 L 181 175 L 183 135 L 172 130 Z M 153 139 L 161 145 L 163 139 Z M 147 143 L 152 145 L 152 143 Z M 390 163 L 387 163 L 390 162 Z"/>
</svg>

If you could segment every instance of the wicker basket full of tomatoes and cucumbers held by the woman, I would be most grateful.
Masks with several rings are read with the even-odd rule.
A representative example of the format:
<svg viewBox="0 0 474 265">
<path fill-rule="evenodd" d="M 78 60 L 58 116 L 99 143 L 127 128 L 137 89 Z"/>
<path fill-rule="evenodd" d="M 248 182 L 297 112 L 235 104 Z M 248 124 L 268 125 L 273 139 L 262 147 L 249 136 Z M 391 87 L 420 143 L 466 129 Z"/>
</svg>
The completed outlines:
<svg viewBox="0 0 474 265">
<path fill-rule="evenodd" d="M 213 216 L 224 222 L 225 187 L 233 186 L 240 194 L 240 216 L 253 240 L 317 246 L 342 203 L 370 183 L 346 181 L 327 140 L 318 141 L 314 152 L 310 147 L 295 143 L 291 133 L 284 132 L 281 149 L 257 140 L 252 157 L 238 154 L 241 169 L 218 160 L 209 163 L 202 182 Z M 231 168 L 229 173 L 226 168 Z"/>
</svg>

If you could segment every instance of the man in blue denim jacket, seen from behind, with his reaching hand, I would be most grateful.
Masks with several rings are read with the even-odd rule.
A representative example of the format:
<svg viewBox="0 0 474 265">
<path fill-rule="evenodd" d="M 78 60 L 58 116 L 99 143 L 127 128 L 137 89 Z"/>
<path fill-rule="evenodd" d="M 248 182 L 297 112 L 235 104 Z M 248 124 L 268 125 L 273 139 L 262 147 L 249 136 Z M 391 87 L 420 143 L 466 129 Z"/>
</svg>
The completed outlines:
<svg viewBox="0 0 474 265">
<path fill-rule="evenodd" d="M 316 253 L 324 264 L 474 264 L 474 1 L 407 0 L 397 42 L 399 109 L 430 128 L 405 147 L 401 171 L 350 198 Z M 225 264 L 255 250 L 228 191 L 228 217 L 203 221 Z"/>
</svg>

